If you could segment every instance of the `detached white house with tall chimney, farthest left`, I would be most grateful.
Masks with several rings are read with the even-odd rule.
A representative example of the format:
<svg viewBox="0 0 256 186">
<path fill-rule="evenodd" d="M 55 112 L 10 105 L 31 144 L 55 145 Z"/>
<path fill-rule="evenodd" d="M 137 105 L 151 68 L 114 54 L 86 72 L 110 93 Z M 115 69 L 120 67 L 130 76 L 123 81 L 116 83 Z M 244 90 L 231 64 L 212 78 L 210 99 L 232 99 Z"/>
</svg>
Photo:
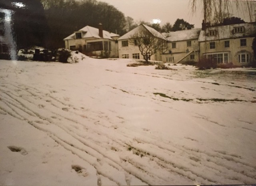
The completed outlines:
<svg viewBox="0 0 256 186">
<path fill-rule="evenodd" d="M 78 50 L 86 55 L 118 57 L 119 35 L 103 30 L 102 24 L 98 28 L 83 27 L 64 39 L 65 48 Z"/>
</svg>

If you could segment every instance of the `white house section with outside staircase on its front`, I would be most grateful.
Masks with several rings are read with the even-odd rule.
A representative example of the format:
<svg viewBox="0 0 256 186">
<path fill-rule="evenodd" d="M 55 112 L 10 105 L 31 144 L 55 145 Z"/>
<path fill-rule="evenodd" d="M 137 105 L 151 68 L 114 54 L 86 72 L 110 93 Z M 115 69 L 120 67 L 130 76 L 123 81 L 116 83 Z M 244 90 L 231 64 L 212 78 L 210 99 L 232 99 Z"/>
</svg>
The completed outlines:
<svg viewBox="0 0 256 186">
<path fill-rule="evenodd" d="M 201 29 L 189 29 L 162 33 L 168 39 L 168 50 L 163 53 L 163 61 L 170 63 L 198 62 L 200 31 Z"/>
</svg>

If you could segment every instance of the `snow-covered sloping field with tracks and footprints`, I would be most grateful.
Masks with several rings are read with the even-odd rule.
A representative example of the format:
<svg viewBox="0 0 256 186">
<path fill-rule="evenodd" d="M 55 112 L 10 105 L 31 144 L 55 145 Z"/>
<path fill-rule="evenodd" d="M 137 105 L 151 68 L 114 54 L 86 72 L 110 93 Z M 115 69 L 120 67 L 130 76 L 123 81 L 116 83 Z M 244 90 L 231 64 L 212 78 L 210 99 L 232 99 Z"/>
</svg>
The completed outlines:
<svg viewBox="0 0 256 186">
<path fill-rule="evenodd" d="M 256 183 L 256 69 L 0 61 L 0 185 Z"/>
</svg>

